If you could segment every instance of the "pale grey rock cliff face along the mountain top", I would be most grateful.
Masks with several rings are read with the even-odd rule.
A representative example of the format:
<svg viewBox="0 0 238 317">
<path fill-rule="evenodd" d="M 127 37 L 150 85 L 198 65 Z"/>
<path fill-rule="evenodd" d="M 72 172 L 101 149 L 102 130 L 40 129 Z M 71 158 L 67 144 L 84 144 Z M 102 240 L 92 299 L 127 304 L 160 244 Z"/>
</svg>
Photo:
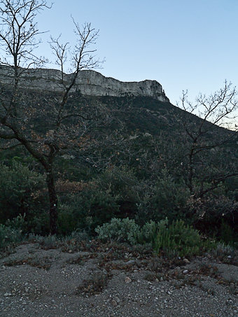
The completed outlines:
<svg viewBox="0 0 238 317">
<path fill-rule="evenodd" d="M 0 65 L 0 83 L 11 83 L 13 80 L 12 70 L 8 66 Z M 71 74 L 63 74 L 64 84 L 68 85 Z M 20 79 L 20 86 L 32 90 L 62 91 L 62 72 L 56 69 L 28 69 Z M 82 94 L 90 96 L 116 96 L 125 94 L 135 96 L 154 97 L 160 101 L 169 102 L 162 86 L 155 80 L 140 82 L 122 82 L 110 77 L 104 77 L 97 71 L 80 71 L 76 85 L 72 91 L 80 90 Z"/>
</svg>

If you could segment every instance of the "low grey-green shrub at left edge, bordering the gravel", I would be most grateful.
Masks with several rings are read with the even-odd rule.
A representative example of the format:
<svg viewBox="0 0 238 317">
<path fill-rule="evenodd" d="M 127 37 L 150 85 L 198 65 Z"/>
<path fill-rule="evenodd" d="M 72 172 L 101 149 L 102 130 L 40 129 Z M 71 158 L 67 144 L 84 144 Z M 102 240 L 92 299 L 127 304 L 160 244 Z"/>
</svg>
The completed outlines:
<svg viewBox="0 0 238 317">
<path fill-rule="evenodd" d="M 0 225 L 0 249 L 18 243 L 22 241 L 22 239 L 23 235 L 21 230 Z"/>
</svg>

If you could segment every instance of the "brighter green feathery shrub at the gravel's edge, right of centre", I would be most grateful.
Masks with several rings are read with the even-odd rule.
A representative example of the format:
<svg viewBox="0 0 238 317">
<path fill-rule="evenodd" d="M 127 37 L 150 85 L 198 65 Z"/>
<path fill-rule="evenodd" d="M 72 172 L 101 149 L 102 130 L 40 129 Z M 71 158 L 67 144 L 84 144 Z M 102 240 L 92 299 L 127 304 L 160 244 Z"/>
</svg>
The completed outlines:
<svg viewBox="0 0 238 317">
<path fill-rule="evenodd" d="M 169 227 L 162 226 L 155 240 L 155 250 L 179 256 L 195 255 L 201 246 L 200 234 L 183 220 L 173 221 Z"/>
</svg>

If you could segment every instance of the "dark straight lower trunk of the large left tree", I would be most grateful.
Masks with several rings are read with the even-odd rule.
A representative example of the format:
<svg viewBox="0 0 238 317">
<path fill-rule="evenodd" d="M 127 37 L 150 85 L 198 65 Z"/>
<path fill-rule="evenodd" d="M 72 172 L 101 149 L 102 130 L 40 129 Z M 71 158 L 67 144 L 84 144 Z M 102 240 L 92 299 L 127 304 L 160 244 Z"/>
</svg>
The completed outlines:
<svg viewBox="0 0 238 317">
<path fill-rule="evenodd" d="M 52 169 L 47 171 L 46 182 L 50 202 L 50 234 L 57 233 L 58 199 L 55 191 L 55 178 Z"/>
</svg>

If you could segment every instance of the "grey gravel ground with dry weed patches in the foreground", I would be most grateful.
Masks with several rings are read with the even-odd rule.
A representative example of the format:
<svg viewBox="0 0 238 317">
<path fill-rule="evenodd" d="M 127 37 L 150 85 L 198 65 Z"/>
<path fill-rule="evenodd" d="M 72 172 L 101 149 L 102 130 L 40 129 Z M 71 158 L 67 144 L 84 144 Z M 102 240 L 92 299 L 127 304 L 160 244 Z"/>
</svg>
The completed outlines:
<svg viewBox="0 0 238 317">
<path fill-rule="evenodd" d="M 166 265 L 106 248 L 22 244 L 0 259 L 0 316 L 238 316 L 238 267 L 209 258 Z"/>
</svg>

